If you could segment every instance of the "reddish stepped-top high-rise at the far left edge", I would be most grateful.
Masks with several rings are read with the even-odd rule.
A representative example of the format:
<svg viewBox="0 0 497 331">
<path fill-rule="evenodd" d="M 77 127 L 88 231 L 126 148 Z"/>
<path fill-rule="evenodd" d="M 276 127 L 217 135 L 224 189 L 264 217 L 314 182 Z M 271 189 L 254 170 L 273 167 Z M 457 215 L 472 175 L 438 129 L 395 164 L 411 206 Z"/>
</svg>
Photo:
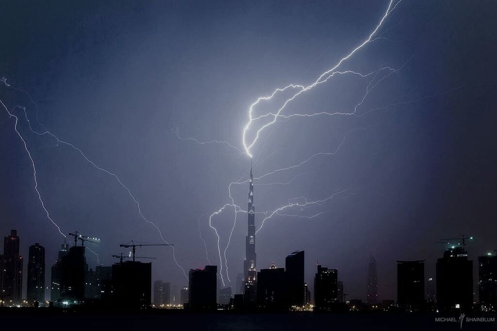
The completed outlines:
<svg viewBox="0 0 497 331">
<path fill-rule="evenodd" d="M 5 301 L 19 302 L 22 295 L 22 257 L 19 256 L 17 230 L 3 238 L 0 255 L 0 294 Z"/>
</svg>

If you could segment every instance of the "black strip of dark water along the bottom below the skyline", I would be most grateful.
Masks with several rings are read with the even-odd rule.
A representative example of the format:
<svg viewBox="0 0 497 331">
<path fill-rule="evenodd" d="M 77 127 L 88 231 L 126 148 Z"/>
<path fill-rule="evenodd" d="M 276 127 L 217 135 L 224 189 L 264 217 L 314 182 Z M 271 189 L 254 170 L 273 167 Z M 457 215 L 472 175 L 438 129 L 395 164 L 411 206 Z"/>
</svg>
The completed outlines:
<svg viewBox="0 0 497 331">
<path fill-rule="evenodd" d="M 98 312 L 1 311 L 0 330 L 497 330 L 497 322 L 435 321 L 434 315 L 384 313 L 185 313 L 144 314 Z M 486 316 L 487 319 L 497 317 Z"/>
</svg>

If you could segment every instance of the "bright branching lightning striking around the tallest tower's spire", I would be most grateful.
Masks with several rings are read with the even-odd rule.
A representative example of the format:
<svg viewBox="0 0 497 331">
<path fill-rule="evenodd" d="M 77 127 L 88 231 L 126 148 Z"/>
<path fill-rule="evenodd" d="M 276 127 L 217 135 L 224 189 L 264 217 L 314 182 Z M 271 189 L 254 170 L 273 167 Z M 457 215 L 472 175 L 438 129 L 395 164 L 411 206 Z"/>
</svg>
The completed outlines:
<svg viewBox="0 0 497 331">
<path fill-rule="evenodd" d="M 258 97 L 256 99 L 256 101 L 253 102 L 250 105 L 250 107 L 248 108 L 248 122 L 244 126 L 243 132 L 242 132 L 242 146 L 243 146 L 242 148 L 239 148 L 239 147 L 235 146 L 234 144 L 229 143 L 227 141 L 223 141 L 223 140 L 200 141 L 200 140 L 198 140 L 196 138 L 191 138 L 191 137 L 185 138 L 185 137 L 182 137 L 182 136 L 179 135 L 179 129 L 173 130 L 173 133 L 176 134 L 177 137 L 179 139 L 181 139 L 181 140 L 190 140 L 190 141 L 194 141 L 194 142 L 196 142 L 198 144 L 201 144 L 201 145 L 212 144 L 212 143 L 228 145 L 229 147 L 235 149 L 239 153 L 246 154 L 246 155 L 249 156 L 249 158 L 252 158 L 252 156 L 253 156 L 253 148 L 255 147 L 256 143 L 258 142 L 258 140 L 260 138 L 261 132 L 263 132 L 265 129 L 269 128 L 273 124 L 277 123 L 278 121 L 279 122 L 284 122 L 284 121 L 287 121 L 287 120 L 290 120 L 290 119 L 293 119 L 293 118 L 311 119 L 313 117 L 320 117 L 320 116 L 352 116 L 353 115 L 353 116 L 361 117 L 361 116 L 363 116 L 363 115 L 365 115 L 365 114 L 367 114 L 369 112 L 372 112 L 372 111 L 386 109 L 386 108 L 393 107 L 393 106 L 396 106 L 396 105 L 399 106 L 399 105 L 413 103 L 413 102 L 416 102 L 416 101 L 421 101 L 421 100 L 423 100 L 425 98 L 439 96 L 441 94 L 449 93 L 449 92 L 451 92 L 451 91 L 453 91 L 455 89 L 458 89 L 459 87 L 458 88 L 454 88 L 454 89 L 450 89 L 450 90 L 445 91 L 445 92 L 440 93 L 440 94 L 427 95 L 427 96 L 424 96 L 422 98 L 418 98 L 416 100 L 410 100 L 410 101 L 392 103 L 392 104 L 389 104 L 389 105 L 384 106 L 384 107 L 366 110 L 365 112 L 363 112 L 361 114 L 357 113 L 358 108 L 361 107 L 364 104 L 364 102 L 365 102 L 366 98 L 368 97 L 368 95 L 376 87 L 378 87 L 381 83 L 383 83 L 384 81 L 386 81 L 392 74 L 395 74 L 395 73 L 398 73 L 399 71 L 401 71 L 413 59 L 414 56 L 411 56 L 405 63 L 403 63 L 398 68 L 394 68 L 392 66 L 382 66 L 382 67 L 380 67 L 377 70 L 374 70 L 372 72 L 367 72 L 367 73 L 361 73 L 361 72 L 358 72 L 358 71 L 355 71 L 355 70 L 352 70 L 352 69 L 345 69 L 345 70 L 343 70 L 343 69 L 339 69 L 339 67 L 343 66 L 344 63 L 348 59 L 352 58 L 354 56 L 354 54 L 357 53 L 359 50 L 361 50 L 362 48 L 365 48 L 365 46 L 367 44 L 375 42 L 375 41 L 378 41 L 378 40 L 385 40 L 386 38 L 384 37 L 384 35 L 388 31 L 390 31 L 391 29 L 395 29 L 398 25 L 400 25 L 402 23 L 402 20 L 401 20 L 399 23 L 397 23 L 397 24 L 395 24 L 393 26 L 390 26 L 387 29 L 384 29 L 383 32 L 379 33 L 380 31 L 382 31 L 382 28 L 384 27 L 387 18 L 390 15 L 392 15 L 392 13 L 394 12 L 394 10 L 399 6 L 399 4 L 401 2 L 402 2 L 402 0 L 400 0 L 400 1 L 391 0 L 388 3 L 387 9 L 385 10 L 383 16 L 380 18 L 378 24 L 370 32 L 370 34 L 368 35 L 368 37 L 365 40 L 361 41 L 359 43 L 359 45 L 357 47 L 355 47 L 354 49 L 352 49 L 352 51 L 350 51 L 346 56 L 344 56 L 343 58 L 341 58 L 334 66 L 332 66 L 330 69 L 328 69 L 328 70 L 324 71 L 322 74 L 320 74 L 319 77 L 313 83 L 311 83 L 311 84 L 309 84 L 307 86 L 306 85 L 302 85 L 302 84 L 293 84 L 293 83 L 292 84 L 288 84 L 288 85 L 286 85 L 284 87 L 276 88 L 273 92 L 271 92 L 267 96 Z M 314 63 L 313 63 L 313 65 L 314 65 Z M 386 72 L 386 73 L 384 73 L 384 72 Z M 329 80 L 331 80 L 332 78 L 334 78 L 334 77 L 336 77 L 338 75 L 340 75 L 340 76 L 341 75 L 354 75 L 354 76 L 357 76 L 359 78 L 369 79 L 369 83 L 368 83 L 368 85 L 366 87 L 366 90 L 365 90 L 364 94 L 359 98 L 359 101 L 353 107 L 353 109 L 351 109 L 350 111 L 334 111 L 334 112 L 320 111 L 320 112 L 315 112 L 315 113 L 294 113 L 294 114 L 285 114 L 284 113 L 284 110 L 287 108 L 287 105 L 289 103 L 291 103 L 293 100 L 295 100 L 296 98 L 298 98 L 300 95 L 304 94 L 307 91 L 310 91 L 311 89 L 313 89 L 314 87 L 316 87 L 318 85 L 321 85 L 321 84 L 324 84 L 324 83 L 328 82 Z M 274 99 L 276 96 L 283 95 L 284 93 L 287 93 L 287 92 L 290 92 L 290 96 L 289 97 L 285 97 L 285 99 L 281 102 L 281 106 L 277 107 L 275 111 L 269 111 L 269 112 L 267 112 L 265 114 L 254 115 L 254 113 L 256 112 L 257 106 L 259 106 L 262 102 L 270 101 L 270 100 Z M 256 126 L 258 122 L 260 122 L 261 120 L 264 120 L 266 118 L 270 119 L 269 122 L 267 122 L 265 124 L 264 123 L 260 124 L 258 127 Z M 355 129 L 355 130 L 347 133 L 343 137 L 343 139 L 341 140 L 341 142 L 337 145 L 337 147 L 336 147 L 336 149 L 334 151 L 314 153 L 314 154 L 310 155 L 308 158 L 302 160 L 301 162 L 299 162 L 297 164 L 274 169 L 272 171 L 269 171 L 267 173 L 264 173 L 264 174 L 261 174 L 261 175 L 259 175 L 257 177 L 254 177 L 254 180 L 260 181 L 260 180 L 262 180 L 262 179 L 264 179 L 264 178 L 266 178 L 268 176 L 272 176 L 272 175 L 275 175 L 275 174 L 278 174 L 278 173 L 282 173 L 282 172 L 286 172 L 286 171 L 293 170 L 293 169 L 298 169 L 301 166 L 309 163 L 310 161 L 312 161 L 313 159 L 315 159 L 315 158 L 317 158 L 319 156 L 331 156 L 331 155 L 335 155 L 336 153 L 338 153 L 338 151 L 340 150 L 340 148 L 342 148 L 343 144 L 345 143 L 346 137 L 349 134 L 351 134 L 353 132 L 356 132 L 358 130 L 366 130 L 366 129 L 365 128 L 358 128 L 358 129 Z M 249 138 L 251 131 L 253 131 L 254 133 L 251 133 L 252 138 Z M 262 149 L 260 150 L 260 152 L 262 152 Z M 259 152 L 259 156 L 260 156 L 260 152 Z M 270 155 L 268 155 L 268 156 L 270 156 Z M 257 161 L 255 162 L 255 164 L 257 164 Z M 230 280 L 230 276 L 229 276 L 229 272 L 228 272 L 228 259 L 226 257 L 226 252 L 229 249 L 229 245 L 230 245 L 231 240 L 232 240 L 233 230 L 235 229 L 235 225 L 236 225 L 236 221 L 237 221 L 237 214 L 241 213 L 241 212 L 242 213 L 243 212 L 245 212 L 245 213 L 247 212 L 246 210 L 243 210 L 240 207 L 239 203 L 235 202 L 235 200 L 234 200 L 234 198 L 232 196 L 232 187 L 235 186 L 235 185 L 244 185 L 244 184 L 247 184 L 249 182 L 249 180 L 244 180 L 244 178 L 247 175 L 247 173 L 248 173 L 248 170 L 244 173 L 244 175 L 242 175 L 242 177 L 238 181 L 235 181 L 235 182 L 232 182 L 232 183 L 229 184 L 229 186 L 228 186 L 228 196 L 229 196 L 230 202 L 224 204 L 221 208 L 219 208 L 218 210 L 216 210 L 215 212 L 213 212 L 210 215 L 210 217 L 209 217 L 209 226 L 210 226 L 210 228 L 212 228 L 214 230 L 216 238 L 217 238 L 217 252 L 218 252 L 218 256 L 219 256 L 220 276 L 221 276 L 221 281 L 223 283 L 223 286 L 225 286 L 224 274 L 226 275 L 227 279 L 229 281 L 231 281 Z M 297 177 L 302 176 L 302 175 L 305 175 L 305 173 L 297 174 L 297 175 L 295 175 L 292 179 L 290 179 L 287 182 L 278 182 L 278 181 L 270 182 L 270 183 L 263 183 L 263 182 L 259 183 L 259 182 L 257 182 L 257 185 L 258 186 L 274 186 L 274 185 L 283 185 L 283 186 L 286 186 L 286 185 L 292 184 L 292 182 Z M 344 194 L 344 193 L 347 193 L 347 192 L 350 192 L 350 191 L 351 191 L 350 189 L 340 190 L 340 191 L 332 194 L 328 198 L 317 199 L 317 200 L 312 200 L 312 201 L 307 201 L 307 199 L 306 199 L 305 202 L 289 202 L 288 204 L 283 205 L 283 206 L 279 206 L 278 208 L 276 208 L 276 209 L 274 209 L 272 211 L 265 211 L 263 213 L 264 214 L 269 214 L 269 215 L 265 216 L 260 221 L 260 225 L 257 228 L 256 233 L 259 232 L 262 229 L 262 227 L 263 227 L 263 225 L 264 225 L 264 223 L 265 223 L 266 220 L 272 218 L 275 215 L 278 215 L 278 216 L 288 216 L 288 217 L 300 217 L 302 219 L 312 219 L 312 218 L 318 217 L 320 215 L 326 214 L 326 213 L 330 212 L 330 210 L 316 212 L 316 213 L 314 213 L 312 215 L 285 214 L 285 213 L 282 213 L 282 212 L 285 209 L 294 208 L 294 207 L 299 207 L 300 210 L 303 210 L 303 209 L 305 209 L 306 207 L 309 207 L 309 206 L 313 206 L 313 205 L 316 205 L 316 204 L 319 205 L 319 204 L 325 203 L 325 202 L 331 200 L 336 195 Z M 219 214 L 223 213 L 227 209 L 230 210 L 230 212 L 232 212 L 234 214 L 234 218 L 233 218 L 233 224 L 232 224 L 232 226 L 230 225 L 231 230 L 229 232 L 229 236 L 228 236 L 228 239 L 227 239 L 227 244 L 226 244 L 226 246 L 223 247 L 221 245 L 221 237 L 220 237 L 220 233 L 218 232 L 218 228 L 212 225 L 212 220 L 213 220 L 214 217 L 219 216 Z M 221 225 L 218 225 L 218 226 L 221 226 Z M 201 239 L 204 241 L 204 239 L 202 237 L 201 237 Z M 205 241 L 204 241 L 204 244 L 205 244 Z M 206 255 L 208 255 L 208 253 L 207 253 L 207 246 L 205 246 L 205 249 L 206 249 Z M 223 256 L 222 252 L 224 252 L 224 256 Z M 223 267 L 223 265 L 224 265 L 224 267 Z"/>
</svg>

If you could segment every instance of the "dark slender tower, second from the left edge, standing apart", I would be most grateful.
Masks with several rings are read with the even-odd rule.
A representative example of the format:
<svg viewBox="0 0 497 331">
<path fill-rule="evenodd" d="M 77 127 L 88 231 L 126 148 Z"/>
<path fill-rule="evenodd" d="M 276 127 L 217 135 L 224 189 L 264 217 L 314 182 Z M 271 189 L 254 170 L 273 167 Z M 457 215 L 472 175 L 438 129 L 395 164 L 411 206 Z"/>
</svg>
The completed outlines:
<svg viewBox="0 0 497 331">
<path fill-rule="evenodd" d="M 28 283 L 26 298 L 28 301 L 45 301 L 45 248 L 36 243 L 29 246 Z"/>
</svg>

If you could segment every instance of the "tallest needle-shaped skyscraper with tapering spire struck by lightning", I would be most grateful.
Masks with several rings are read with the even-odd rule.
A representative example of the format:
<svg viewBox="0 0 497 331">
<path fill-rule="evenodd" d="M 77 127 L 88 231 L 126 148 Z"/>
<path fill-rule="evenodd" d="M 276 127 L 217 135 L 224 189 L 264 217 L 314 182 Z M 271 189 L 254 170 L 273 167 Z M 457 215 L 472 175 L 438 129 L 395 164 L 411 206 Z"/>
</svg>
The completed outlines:
<svg viewBox="0 0 497 331">
<path fill-rule="evenodd" d="M 245 243 L 245 261 L 244 261 L 244 277 L 245 291 L 244 301 L 247 304 L 255 302 L 255 294 L 257 288 L 256 280 L 256 261 L 255 254 L 255 208 L 253 206 L 253 176 L 252 176 L 252 160 L 250 160 L 250 181 L 248 186 L 248 234 Z M 191 290 L 191 286 L 190 286 Z"/>
</svg>

